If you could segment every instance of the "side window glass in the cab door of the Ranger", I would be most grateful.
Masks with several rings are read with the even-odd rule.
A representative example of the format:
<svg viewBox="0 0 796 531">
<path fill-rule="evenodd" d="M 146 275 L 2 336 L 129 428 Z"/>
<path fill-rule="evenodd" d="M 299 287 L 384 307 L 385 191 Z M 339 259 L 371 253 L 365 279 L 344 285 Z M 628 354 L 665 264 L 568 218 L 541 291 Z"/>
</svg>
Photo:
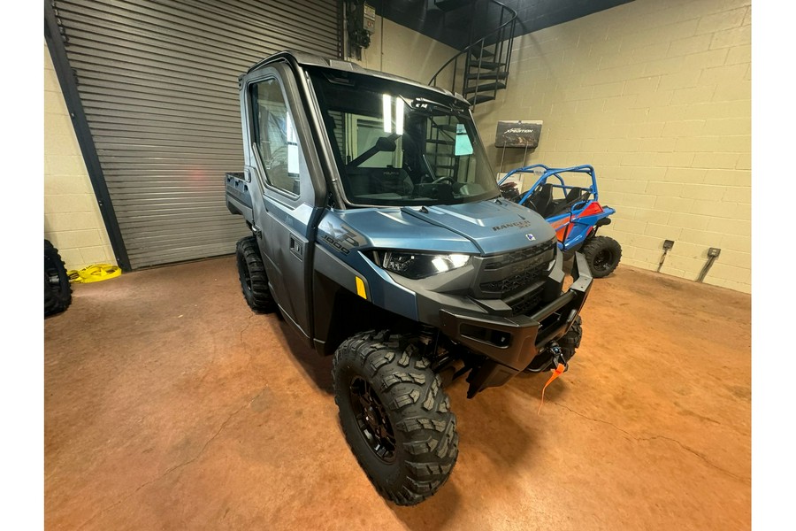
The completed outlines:
<svg viewBox="0 0 796 531">
<path fill-rule="evenodd" d="M 273 187 L 299 195 L 301 150 L 295 122 L 285 97 L 282 96 L 279 81 L 269 79 L 252 83 L 249 94 L 254 139 L 263 163 L 265 179 Z"/>
</svg>

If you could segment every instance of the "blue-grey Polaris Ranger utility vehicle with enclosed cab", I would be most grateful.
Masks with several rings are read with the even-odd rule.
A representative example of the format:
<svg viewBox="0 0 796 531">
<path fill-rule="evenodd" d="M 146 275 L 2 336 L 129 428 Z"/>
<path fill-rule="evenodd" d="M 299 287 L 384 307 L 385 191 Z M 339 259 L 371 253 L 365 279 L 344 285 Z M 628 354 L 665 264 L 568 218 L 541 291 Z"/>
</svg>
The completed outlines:
<svg viewBox="0 0 796 531">
<path fill-rule="evenodd" d="M 468 397 L 566 366 L 592 279 L 563 292 L 555 232 L 501 198 L 461 96 L 282 52 L 240 78 L 245 167 L 226 204 L 258 312 L 333 355 L 342 430 L 379 492 L 417 504 L 458 455 L 443 385 Z"/>
</svg>

